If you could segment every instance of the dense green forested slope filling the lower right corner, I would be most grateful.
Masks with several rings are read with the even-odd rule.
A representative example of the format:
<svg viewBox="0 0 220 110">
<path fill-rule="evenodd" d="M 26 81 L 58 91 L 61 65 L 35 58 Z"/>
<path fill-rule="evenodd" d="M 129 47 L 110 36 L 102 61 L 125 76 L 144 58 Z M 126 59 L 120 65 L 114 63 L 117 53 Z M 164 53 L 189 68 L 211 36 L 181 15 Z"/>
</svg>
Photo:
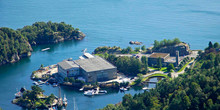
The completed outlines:
<svg viewBox="0 0 220 110">
<path fill-rule="evenodd" d="M 219 44 L 209 43 L 200 52 L 194 68 L 175 79 L 164 79 L 149 92 L 131 96 L 121 103 L 109 104 L 103 110 L 219 110 L 220 109 L 220 50 Z"/>
</svg>

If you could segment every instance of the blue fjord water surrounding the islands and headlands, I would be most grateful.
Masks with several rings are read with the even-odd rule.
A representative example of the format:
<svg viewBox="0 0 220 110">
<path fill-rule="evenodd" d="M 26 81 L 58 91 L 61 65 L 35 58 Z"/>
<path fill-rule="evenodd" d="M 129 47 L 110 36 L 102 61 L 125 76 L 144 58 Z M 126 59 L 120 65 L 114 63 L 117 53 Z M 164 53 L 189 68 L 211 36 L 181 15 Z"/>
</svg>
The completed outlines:
<svg viewBox="0 0 220 110">
<path fill-rule="evenodd" d="M 36 21 L 64 21 L 87 36 L 80 42 L 33 47 L 30 58 L 1 66 L 0 107 L 4 110 L 21 109 L 10 101 L 16 88 L 30 89 L 31 72 L 41 64 L 56 64 L 70 57 L 78 59 L 85 48 L 92 52 L 98 46 L 127 47 L 130 40 L 149 47 L 154 40 L 175 37 L 189 43 L 191 49 L 204 49 L 209 41 L 220 42 L 219 0 L 0 0 L 0 27 L 17 29 Z M 40 51 L 47 47 L 51 49 Z M 58 88 L 42 88 L 48 95 L 58 95 Z M 68 88 L 61 92 L 69 99 L 68 110 L 73 109 L 73 97 L 79 110 L 93 110 L 118 103 L 124 95 L 112 92 L 89 98 Z M 139 92 L 142 91 L 126 93 Z"/>
</svg>

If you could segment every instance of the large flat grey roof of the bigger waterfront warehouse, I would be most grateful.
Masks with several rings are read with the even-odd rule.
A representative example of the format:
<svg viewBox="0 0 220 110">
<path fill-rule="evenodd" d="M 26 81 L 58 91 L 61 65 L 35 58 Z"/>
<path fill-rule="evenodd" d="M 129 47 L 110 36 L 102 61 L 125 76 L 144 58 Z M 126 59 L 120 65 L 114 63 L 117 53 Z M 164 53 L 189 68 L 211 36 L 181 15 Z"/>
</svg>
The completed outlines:
<svg viewBox="0 0 220 110">
<path fill-rule="evenodd" d="M 89 59 L 79 59 L 75 60 L 74 62 L 86 72 L 116 68 L 114 65 L 98 56 Z"/>
</svg>

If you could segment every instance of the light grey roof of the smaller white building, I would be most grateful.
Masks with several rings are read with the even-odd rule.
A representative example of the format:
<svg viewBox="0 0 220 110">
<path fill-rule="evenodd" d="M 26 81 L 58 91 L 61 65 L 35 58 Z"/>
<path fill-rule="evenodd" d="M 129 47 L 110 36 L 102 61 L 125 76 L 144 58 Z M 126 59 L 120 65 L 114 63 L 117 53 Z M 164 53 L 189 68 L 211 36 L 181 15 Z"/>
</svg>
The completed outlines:
<svg viewBox="0 0 220 110">
<path fill-rule="evenodd" d="M 62 62 L 57 63 L 59 66 L 61 66 L 61 68 L 67 70 L 67 69 L 71 69 L 73 67 L 79 67 L 77 64 L 75 64 L 73 61 L 67 61 L 64 60 Z"/>
</svg>

